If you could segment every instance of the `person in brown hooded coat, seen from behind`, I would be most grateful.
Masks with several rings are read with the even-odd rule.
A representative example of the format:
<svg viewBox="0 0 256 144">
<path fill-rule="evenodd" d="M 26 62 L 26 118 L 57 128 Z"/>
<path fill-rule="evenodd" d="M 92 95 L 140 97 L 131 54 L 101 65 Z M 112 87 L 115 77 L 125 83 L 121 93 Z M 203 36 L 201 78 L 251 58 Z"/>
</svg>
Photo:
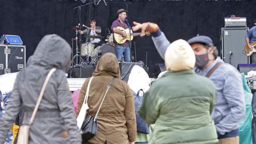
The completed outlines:
<svg viewBox="0 0 256 144">
<path fill-rule="evenodd" d="M 94 77 L 89 89 L 89 109 L 86 117 L 95 116 L 107 90 L 108 83 L 113 77 L 115 79 L 97 117 L 97 134 L 89 140 L 89 143 L 133 143 L 137 134 L 133 94 L 130 87 L 120 79 L 116 55 L 113 53 L 103 54 L 92 76 Z M 77 116 L 84 102 L 89 79 L 86 79 L 79 94 Z"/>
</svg>

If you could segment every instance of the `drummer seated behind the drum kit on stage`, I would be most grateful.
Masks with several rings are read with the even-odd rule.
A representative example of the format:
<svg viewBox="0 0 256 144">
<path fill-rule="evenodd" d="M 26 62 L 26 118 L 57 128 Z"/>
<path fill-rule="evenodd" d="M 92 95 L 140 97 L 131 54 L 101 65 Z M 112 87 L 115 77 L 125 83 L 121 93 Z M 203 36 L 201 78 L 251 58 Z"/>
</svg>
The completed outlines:
<svg viewBox="0 0 256 144">
<path fill-rule="evenodd" d="M 96 26 L 96 20 L 94 18 L 90 19 L 90 28 L 87 28 L 83 31 L 80 31 L 80 34 L 85 34 L 84 36 L 100 36 L 101 33 L 101 27 Z M 94 44 L 94 48 L 100 46 L 103 44 L 100 38 L 87 38 L 85 40 L 86 43 L 92 43 Z"/>
</svg>

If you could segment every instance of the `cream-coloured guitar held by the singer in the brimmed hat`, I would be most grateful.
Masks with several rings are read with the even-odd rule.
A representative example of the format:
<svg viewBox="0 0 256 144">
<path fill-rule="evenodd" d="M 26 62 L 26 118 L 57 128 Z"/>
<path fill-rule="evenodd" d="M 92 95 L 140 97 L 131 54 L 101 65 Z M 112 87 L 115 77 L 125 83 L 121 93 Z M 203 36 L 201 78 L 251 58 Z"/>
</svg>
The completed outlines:
<svg viewBox="0 0 256 144">
<path fill-rule="evenodd" d="M 126 35 L 127 35 L 127 37 L 123 37 L 121 34 L 114 33 L 115 42 L 117 42 L 118 44 L 123 44 L 126 40 L 130 41 L 133 39 L 133 36 L 139 36 L 141 34 L 141 33 L 132 33 L 132 30 L 131 30 L 131 36 L 130 36 L 129 28 L 127 28 L 127 29 L 124 29 L 122 27 L 116 27 L 116 28 L 124 31 L 124 33 L 126 33 Z M 149 36 L 150 32 L 148 30 L 145 31 L 145 35 Z"/>
</svg>

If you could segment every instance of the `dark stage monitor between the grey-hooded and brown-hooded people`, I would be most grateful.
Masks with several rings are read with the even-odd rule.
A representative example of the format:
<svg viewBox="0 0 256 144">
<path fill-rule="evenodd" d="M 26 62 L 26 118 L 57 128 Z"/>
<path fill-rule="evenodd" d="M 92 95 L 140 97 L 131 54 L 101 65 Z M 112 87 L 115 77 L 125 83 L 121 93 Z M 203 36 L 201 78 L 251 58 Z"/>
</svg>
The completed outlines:
<svg viewBox="0 0 256 144">
<path fill-rule="evenodd" d="M 95 70 L 95 67 L 93 65 L 85 65 L 82 67 L 71 68 L 67 70 L 68 78 L 91 77 L 94 70 Z"/>
</svg>

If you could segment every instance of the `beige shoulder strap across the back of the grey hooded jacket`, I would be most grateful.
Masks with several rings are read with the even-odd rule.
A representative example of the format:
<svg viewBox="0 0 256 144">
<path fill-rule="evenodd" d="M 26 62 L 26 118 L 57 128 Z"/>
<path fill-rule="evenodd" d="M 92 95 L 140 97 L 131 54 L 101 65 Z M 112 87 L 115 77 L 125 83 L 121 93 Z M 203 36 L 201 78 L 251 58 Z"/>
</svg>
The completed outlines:
<svg viewBox="0 0 256 144">
<path fill-rule="evenodd" d="M 44 95 L 45 87 L 46 87 L 47 83 L 49 82 L 49 79 L 50 79 L 50 77 L 52 76 L 52 74 L 54 73 L 55 70 L 57 70 L 57 68 L 52 68 L 52 69 L 49 71 L 49 73 L 48 73 L 48 75 L 46 76 L 46 78 L 45 78 L 43 87 L 42 87 L 42 89 L 41 89 L 41 92 L 40 92 L 39 97 L 38 97 L 37 102 L 36 102 L 35 109 L 34 109 L 34 111 L 33 111 L 33 113 L 32 113 L 32 116 L 31 116 L 31 118 L 30 118 L 30 120 L 29 120 L 29 125 L 31 125 L 31 124 L 33 123 L 33 121 L 34 121 L 34 118 L 35 118 L 35 116 L 36 116 L 36 112 L 37 112 L 37 110 L 38 110 L 38 107 L 39 107 L 40 102 L 41 102 L 41 100 L 42 100 L 42 98 L 43 98 L 43 95 Z"/>
</svg>

